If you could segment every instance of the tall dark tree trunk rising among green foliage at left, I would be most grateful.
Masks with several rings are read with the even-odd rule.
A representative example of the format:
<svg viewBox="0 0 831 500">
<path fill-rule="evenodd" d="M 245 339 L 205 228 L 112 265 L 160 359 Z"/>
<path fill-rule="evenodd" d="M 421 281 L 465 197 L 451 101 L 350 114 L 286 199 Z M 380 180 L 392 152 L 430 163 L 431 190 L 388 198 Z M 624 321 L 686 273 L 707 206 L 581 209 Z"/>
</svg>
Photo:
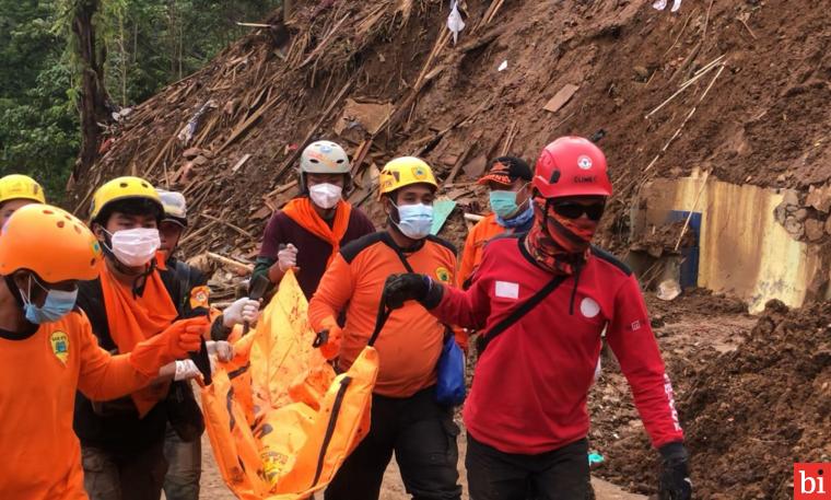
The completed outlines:
<svg viewBox="0 0 831 500">
<path fill-rule="evenodd" d="M 104 86 L 104 61 L 106 51 L 96 49 L 93 18 L 100 0 L 81 0 L 75 4 L 72 33 L 81 68 L 81 153 L 72 171 L 72 177 L 90 170 L 98 158 L 100 123 L 109 121 L 107 90 Z"/>
</svg>

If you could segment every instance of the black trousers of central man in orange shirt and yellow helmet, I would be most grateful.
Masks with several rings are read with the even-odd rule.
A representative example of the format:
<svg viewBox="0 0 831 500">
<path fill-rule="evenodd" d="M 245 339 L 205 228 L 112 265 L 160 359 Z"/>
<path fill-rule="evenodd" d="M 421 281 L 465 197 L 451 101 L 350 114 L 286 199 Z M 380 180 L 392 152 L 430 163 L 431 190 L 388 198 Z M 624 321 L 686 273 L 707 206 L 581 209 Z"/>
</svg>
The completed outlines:
<svg viewBox="0 0 831 500">
<path fill-rule="evenodd" d="M 459 500 L 459 428 L 433 388 L 407 398 L 372 397 L 372 427 L 326 489 L 326 500 L 373 500 L 393 452 L 414 500 Z"/>
</svg>

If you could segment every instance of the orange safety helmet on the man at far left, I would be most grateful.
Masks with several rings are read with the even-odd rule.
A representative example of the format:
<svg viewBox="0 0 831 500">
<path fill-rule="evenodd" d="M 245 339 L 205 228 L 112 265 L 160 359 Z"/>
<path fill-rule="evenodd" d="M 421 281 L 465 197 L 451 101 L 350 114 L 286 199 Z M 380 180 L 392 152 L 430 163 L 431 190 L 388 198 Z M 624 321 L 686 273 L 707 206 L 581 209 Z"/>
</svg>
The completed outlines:
<svg viewBox="0 0 831 500">
<path fill-rule="evenodd" d="M 15 211 L 0 232 L 0 275 L 21 269 L 49 283 L 98 276 L 101 244 L 71 213 L 33 204 Z"/>
</svg>

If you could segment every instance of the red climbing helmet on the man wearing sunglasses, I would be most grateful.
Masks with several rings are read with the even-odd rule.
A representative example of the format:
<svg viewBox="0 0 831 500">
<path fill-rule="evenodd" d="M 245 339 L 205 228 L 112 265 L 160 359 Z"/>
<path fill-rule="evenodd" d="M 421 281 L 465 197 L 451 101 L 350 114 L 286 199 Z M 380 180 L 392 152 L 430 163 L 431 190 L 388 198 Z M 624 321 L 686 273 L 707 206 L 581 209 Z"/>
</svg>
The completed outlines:
<svg viewBox="0 0 831 500">
<path fill-rule="evenodd" d="M 537 159 L 532 186 L 543 198 L 611 196 L 606 155 L 582 137 L 561 137 Z"/>
</svg>

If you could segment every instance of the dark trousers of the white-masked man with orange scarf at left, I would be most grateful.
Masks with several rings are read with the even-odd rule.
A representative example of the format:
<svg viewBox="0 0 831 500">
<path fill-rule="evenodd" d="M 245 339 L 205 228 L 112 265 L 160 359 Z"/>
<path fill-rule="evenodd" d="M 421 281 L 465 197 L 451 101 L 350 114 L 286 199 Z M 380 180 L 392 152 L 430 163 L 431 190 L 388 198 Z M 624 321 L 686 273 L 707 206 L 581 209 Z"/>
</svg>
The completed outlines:
<svg viewBox="0 0 831 500">
<path fill-rule="evenodd" d="M 159 500 L 167 470 L 164 441 L 141 453 L 82 446 L 84 489 L 90 500 Z"/>
</svg>

